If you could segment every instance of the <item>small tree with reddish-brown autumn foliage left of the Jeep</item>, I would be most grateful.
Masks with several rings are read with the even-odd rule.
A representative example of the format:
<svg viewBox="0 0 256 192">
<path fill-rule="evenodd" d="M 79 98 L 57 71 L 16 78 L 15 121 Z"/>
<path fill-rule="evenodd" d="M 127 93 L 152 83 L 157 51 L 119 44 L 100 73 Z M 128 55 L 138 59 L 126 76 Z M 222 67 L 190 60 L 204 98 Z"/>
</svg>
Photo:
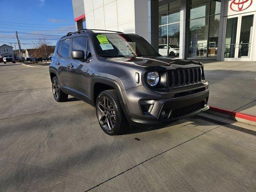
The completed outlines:
<svg viewBox="0 0 256 192">
<path fill-rule="evenodd" d="M 50 42 L 48 42 L 47 38 L 39 38 L 38 42 L 33 42 L 33 57 L 34 58 L 48 58 L 50 54 L 54 52 L 54 46 Z M 45 60 L 46 63 L 46 60 Z"/>
</svg>

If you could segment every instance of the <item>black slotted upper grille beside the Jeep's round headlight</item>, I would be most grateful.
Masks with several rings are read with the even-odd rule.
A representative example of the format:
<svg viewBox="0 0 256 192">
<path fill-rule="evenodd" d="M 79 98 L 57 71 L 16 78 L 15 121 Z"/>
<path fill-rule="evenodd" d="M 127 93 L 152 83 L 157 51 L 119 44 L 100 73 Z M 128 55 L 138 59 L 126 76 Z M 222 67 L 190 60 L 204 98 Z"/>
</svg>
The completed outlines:
<svg viewBox="0 0 256 192">
<path fill-rule="evenodd" d="M 202 68 L 171 70 L 167 72 L 168 86 L 178 87 L 202 81 Z"/>
</svg>

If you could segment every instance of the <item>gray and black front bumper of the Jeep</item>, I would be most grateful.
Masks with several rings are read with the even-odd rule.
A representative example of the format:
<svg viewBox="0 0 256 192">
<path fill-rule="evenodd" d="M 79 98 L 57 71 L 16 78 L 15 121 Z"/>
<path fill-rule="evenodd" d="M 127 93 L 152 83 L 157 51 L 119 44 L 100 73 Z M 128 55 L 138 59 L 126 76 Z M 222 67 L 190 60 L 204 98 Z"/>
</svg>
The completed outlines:
<svg viewBox="0 0 256 192">
<path fill-rule="evenodd" d="M 202 90 L 204 91 L 175 98 L 175 95 L 179 92 L 198 90 L 198 88 L 203 88 Z M 167 93 L 148 90 L 142 86 L 125 90 L 123 95 L 127 106 L 126 118 L 133 126 L 166 126 L 209 109 L 208 85 L 204 84 L 191 85 L 186 90 L 184 88 L 176 88 L 175 91 L 172 90 Z M 155 101 L 150 113 L 145 114 L 142 112 L 140 103 L 142 100 Z M 161 116 L 163 110 L 166 111 L 164 118 Z"/>
</svg>

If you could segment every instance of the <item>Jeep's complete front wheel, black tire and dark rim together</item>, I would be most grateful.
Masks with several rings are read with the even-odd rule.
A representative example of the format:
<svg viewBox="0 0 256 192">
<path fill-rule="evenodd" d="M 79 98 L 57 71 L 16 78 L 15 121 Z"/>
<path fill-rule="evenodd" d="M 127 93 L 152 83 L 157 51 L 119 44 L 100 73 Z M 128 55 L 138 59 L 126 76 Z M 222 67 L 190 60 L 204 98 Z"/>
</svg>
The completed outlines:
<svg viewBox="0 0 256 192">
<path fill-rule="evenodd" d="M 126 132 L 130 126 L 122 110 L 116 90 L 113 89 L 102 91 L 98 95 L 96 115 L 100 127 L 108 135 L 120 135 Z"/>
</svg>

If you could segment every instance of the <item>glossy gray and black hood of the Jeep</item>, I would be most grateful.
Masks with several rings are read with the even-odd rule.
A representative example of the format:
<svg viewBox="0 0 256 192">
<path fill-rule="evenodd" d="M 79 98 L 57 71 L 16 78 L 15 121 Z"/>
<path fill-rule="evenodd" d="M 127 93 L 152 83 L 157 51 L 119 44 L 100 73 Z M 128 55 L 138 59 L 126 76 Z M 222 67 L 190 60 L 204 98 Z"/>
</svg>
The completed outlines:
<svg viewBox="0 0 256 192">
<path fill-rule="evenodd" d="M 192 60 L 174 59 L 168 57 L 130 57 L 106 58 L 106 61 L 139 66 L 147 71 L 172 70 L 178 68 L 192 68 L 203 66 L 202 63 Z"/>
</svg>

